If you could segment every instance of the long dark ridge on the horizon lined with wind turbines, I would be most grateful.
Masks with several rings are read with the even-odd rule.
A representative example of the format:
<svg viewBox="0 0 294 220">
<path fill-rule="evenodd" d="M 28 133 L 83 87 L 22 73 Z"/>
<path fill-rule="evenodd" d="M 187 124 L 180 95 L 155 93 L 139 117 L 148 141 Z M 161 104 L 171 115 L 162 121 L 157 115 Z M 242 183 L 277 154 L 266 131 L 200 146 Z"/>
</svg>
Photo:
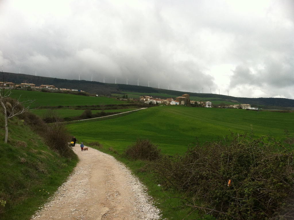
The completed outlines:
<svg viewBox="0 0 294 220">
<path fill-rule="evenodd" d="M 2 77 L 1 77 L 2 80 Z M 124 94 L 126 92 L 138 92 L 138 93 L 161 93 L 159 97 L 170 97 L 170 95 L 181 96 L 183 94 L 189 94 L 190 96 L 197 96 L 205 98 L 216 98 L 217 100 L 221 99 L 223 101 L 244 103 L 257 106 L 267 106 L 271 108 L 278 107 L 294 107 L 293 99 L 286 98 L 243 98 L 243 97 L 233 97 L 227 95 L 218 95 L 210 93 L 193 93 L 193 92 L 181 92 L 175 90 L 165 90 L 157 89 L 147 86 L 137 86 L 137 85 L 126 85 L 126 84 L 112 84 L 112 83 L 103 83 L 96 81 L 86 81 L 86 80 L 66 80 L 58 79 L 52 77 L 41 77 L 34 75 L 18 74 L 4 72 L 4 80 L 7 82 L 14 83 L 34 83 L 36 86 L 44 85 L 54 85 L 57 88 L 66 88 L 66 89 L 77 89 L 83 90 L 92 94 L 97 95 L 106 95 L 109 96 L 111 93 Z M 156 97 L 153 95 L 153 97 Z M 213 100 L 212 100 L 213 101 Z"/>
</svg>

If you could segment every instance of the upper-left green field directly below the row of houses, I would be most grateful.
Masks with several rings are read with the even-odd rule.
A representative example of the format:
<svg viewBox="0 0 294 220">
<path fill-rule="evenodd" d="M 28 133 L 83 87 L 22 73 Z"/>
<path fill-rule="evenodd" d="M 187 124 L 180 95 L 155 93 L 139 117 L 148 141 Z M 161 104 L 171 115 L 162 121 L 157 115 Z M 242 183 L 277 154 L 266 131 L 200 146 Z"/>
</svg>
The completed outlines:
<svg viewBox="0 0 294 220">
<path fill-rule="evenodd" d="M 34 92 L 26 90 L 12 90 L 12 98 L 18 98 L 21 95 L 21 100 L 36 99 L 32 107 L 36 106 L 77 106 L 77 105 L 117 105 L 126 103 L 113 98 L 107 97 L 90 97 L 81 95 L 72 95 L 54 92 Z"/>
</svg>

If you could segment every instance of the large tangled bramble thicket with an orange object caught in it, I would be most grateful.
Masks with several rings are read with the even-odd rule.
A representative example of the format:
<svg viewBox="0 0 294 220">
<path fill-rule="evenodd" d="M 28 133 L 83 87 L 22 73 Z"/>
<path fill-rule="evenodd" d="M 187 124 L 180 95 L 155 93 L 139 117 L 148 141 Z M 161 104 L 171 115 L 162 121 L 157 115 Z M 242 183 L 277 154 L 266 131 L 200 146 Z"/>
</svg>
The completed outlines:
<svg viewBox="0 0 294 220">
<path fill-rule="evenodd" d="M 194 207 L 217 219 L 270 219 L 283 212 L 287 199 L 293 210 L 293 151 L 262 138 L 239 138 L 196 143 L 185 155 L 163 157 L 152 168 L 163 185 L 190 193 L 201 202 Z"/>
</svg>

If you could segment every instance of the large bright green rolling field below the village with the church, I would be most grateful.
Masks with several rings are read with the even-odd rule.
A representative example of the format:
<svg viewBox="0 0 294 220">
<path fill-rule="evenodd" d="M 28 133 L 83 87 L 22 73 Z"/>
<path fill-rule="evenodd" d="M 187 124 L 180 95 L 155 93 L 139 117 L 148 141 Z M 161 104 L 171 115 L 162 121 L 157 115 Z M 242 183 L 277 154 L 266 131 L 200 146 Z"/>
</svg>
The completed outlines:
<svg viewBox="0 0 294 220">
<path fill-rule="evenodd" d="M 294 130 L 293 113 L 248 111 L 242 109 L 191 108 L 160 106 L 136 111 L 111 120 L 69 124 L 67 128 L 79 140 L 103 145 L 122 152 L 138 137 L 160 145 L 167 154 L 183 153 L 196 141 L 217 140 L 230 131 L 255 136 L 285 138 L 284 129 Z"/>
</svg>

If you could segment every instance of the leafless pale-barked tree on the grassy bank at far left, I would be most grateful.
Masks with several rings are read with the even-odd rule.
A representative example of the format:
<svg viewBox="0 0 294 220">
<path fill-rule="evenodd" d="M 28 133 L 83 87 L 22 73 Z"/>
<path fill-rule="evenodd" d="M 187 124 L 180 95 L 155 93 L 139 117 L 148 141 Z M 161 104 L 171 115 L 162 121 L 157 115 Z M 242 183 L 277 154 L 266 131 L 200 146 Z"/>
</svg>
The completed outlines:
<svg viewBox="0 0 294 220">
<path fill-rule="evenodd" d="M 24 100 L 20 101 L 21 95 L 16 99 L 9 99 L 9 96 L 12 94 L 12 89 L 14 89 L 14 85 L 9 87 L 7 86 L 7 82 L 4 79 L 3 75 L 3 82 L 0 82 L 2 85 L 0 86 L 0 104 L 1 104 L 1 112 L 4 114 L 5 119 L 5 140 L 4 143 L 7 143 L 8 139 L 8 119 L 12 118 L 16 115 L 20 115 L 29 110 L 30 105 L 35 101 L 34 100 Z M 26 107 L 24 106 L 26 105 Z"/>
</svg>

